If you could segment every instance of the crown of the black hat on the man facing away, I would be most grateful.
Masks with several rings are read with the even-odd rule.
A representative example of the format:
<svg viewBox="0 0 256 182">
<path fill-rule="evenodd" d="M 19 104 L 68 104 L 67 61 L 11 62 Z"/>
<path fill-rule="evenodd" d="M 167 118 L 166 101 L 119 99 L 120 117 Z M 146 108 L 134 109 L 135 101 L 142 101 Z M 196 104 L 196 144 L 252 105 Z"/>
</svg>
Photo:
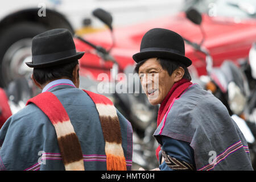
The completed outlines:
<svg viewBox="0 0 256 182">
<path fill-rule="evenodd" d="M 32 39 L 32 55 L 47 55 L 75 48 L 71 32 L 64 28 L 43 32 Z"/>
</svg>

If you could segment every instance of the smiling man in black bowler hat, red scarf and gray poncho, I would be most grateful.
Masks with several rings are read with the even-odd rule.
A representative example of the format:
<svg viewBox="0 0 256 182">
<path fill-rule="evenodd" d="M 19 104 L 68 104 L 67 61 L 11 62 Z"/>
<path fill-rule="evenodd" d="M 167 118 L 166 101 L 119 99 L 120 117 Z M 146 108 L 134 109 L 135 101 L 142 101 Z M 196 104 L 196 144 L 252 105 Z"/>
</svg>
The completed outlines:
<svg viewBox="0 0 256 182">
<path fill-rule="evenodd" d="M 133 55 L 144 92 L 160 104 L 154 170 L 252 170 L 247 142 L 213 94 L 192 84 L 183 38 L 154 28 Z M 142 169 L 143 170 L 143 169 Z"/>
</svg>

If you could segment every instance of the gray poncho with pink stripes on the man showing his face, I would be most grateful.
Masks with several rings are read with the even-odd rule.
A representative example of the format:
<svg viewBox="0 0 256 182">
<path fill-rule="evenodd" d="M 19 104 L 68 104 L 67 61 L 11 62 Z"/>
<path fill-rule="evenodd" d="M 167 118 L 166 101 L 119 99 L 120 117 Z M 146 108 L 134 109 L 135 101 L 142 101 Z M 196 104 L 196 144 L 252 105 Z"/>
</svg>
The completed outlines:
<svg viewBox="0 0 256 182">
<path fill-rule="evenodd" d="M 197 170 L 253 170 L 247 142 L 228 110 L 199 85 L 173 101 L 154 136 L 189 142 Z"/>
</svg>

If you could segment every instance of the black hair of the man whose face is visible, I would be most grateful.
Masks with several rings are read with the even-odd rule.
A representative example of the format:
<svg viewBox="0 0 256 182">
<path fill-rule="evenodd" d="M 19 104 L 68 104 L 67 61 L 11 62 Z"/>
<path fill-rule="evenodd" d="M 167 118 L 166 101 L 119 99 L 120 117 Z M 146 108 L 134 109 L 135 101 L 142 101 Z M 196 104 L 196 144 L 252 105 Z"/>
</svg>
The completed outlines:
<svg viewBox="0 0 256 182">
<path fill-rule="evenodd" d="M 168 59 L 162 59 L 162 58 L 158 58 L 157 59 L 160 63 L 160 65 L 162 66 L 162 68 L 164 70 L 166 70 L 168 72 L 168 74 L 171 76 L 172 73 L 179 67 L 183 68 L 184 69 L 184 75 L 183 75 L 183 78 L 191 81 L 191 76 L 190 76 L 190 73 L 188 71 L 188 68 L 182 64 L 182 63 L 179 63 L 177 61 L 171 61 L 171 60 L 168 60 Z M 145 60 L 142 60 L 140 61 L 139 63 L 137 63 L 135 65 L 135 68 L 134 68 L 134 73 L 139 73 L 139 67 L 141 67 L 142 64 L 144 64 L 145 62 L 147 61 L 147 59 Z"/>
</svg>

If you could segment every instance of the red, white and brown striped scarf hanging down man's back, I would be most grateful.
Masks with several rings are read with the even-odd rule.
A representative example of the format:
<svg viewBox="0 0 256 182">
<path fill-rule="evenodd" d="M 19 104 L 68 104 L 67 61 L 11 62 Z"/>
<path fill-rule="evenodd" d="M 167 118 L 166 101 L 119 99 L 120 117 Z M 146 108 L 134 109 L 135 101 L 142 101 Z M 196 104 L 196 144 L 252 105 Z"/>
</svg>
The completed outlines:
<svg viewBox="0 0 256 182">
<path fill-rule="evenodd" d="M 126 160 L 123 154 L 121 128 L 117 111 L 113 103 L 100 94 L 84 90 L 96 105 L 102 133 L 105 139 L 106 167 L 107 170 L 126 170 Z M 49 118 L 55 127 L 60 154 L 63 158 L 65 170 L 84 171 L 82 150 L 75 130 L 68 117 L 67 111 L 51 92 L 43 92 L 27 101 L 35 104 Z"/>
</svg>

